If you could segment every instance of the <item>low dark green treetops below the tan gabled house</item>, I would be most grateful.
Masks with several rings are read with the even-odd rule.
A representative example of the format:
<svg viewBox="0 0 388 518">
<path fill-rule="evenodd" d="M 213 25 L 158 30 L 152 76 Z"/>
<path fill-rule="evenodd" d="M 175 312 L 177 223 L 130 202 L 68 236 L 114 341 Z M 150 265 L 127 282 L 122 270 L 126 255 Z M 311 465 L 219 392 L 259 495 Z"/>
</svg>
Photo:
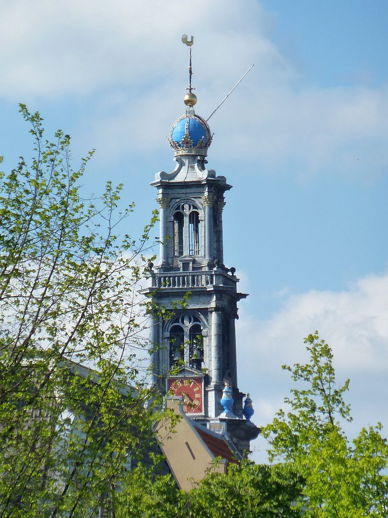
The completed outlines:
<svg viewBox="0 0 388 518">
<path fill-rule="evenodd" d="M 171 477 L 135 473 L 130 491 L 122 493 L 123 514 L 144 518 L 279 518 L 299 516 L 293 505 L 299 481 L 282 465 L 231 464 L 228 473 L 210 471 L 193 482 L 189 493 L 177 490 Z M 144 487 L 147 491 L 144 492 Z"/>
</svg>

